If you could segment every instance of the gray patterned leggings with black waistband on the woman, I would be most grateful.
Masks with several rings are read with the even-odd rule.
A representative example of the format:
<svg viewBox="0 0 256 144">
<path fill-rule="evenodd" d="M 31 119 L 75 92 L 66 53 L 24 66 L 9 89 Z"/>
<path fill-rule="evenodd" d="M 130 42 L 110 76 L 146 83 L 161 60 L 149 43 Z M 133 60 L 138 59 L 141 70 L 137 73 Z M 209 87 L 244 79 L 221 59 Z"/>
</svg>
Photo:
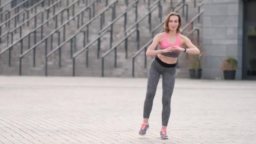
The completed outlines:
<svg viewBox="0 0 256 144">
<path fill-rule="evenodd" d="M 167 126 L 171 114 L 171 96 L 173 93 L 175 83 L 176 64 L 166 64 L 161 61 L 157 56 L 151 62 L 148 73 L 147 81 L 147 94 L 144 101 L 143 117 L 149 118 L 152 110 L 153 100 L 155 97 L 157 84 L 160 75 L 163 76 L 163 96 L 162 96 L 162 125 Z"/>
</svg>

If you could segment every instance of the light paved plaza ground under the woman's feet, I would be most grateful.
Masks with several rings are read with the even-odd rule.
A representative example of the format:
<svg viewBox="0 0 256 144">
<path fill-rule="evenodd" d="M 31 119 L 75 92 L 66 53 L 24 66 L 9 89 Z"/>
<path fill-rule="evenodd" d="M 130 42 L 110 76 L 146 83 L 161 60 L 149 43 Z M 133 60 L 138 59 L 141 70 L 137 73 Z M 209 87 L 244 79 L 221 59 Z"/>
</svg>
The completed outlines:
<svg viewBox="0 0 256 144">
<path fill-rule="evenodd" d="M 140 136 L 146 78 L 0 76 L 0 144 L 256 144 L 256 81 L 176 79 L 160 139 L 162 81 Z"/>
</svg>

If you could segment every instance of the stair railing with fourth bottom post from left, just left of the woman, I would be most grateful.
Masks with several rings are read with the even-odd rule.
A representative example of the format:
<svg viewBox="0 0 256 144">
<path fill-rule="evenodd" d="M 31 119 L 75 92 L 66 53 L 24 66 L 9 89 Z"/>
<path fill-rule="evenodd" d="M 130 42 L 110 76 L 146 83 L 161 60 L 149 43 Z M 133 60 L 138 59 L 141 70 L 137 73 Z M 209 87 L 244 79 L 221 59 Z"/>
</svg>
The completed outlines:
<svg viewBox="0 0 256 144">
<path fill-rule="evenodd" d="M 151 16 L 151 13 L 155 11 L 158 8 L 158 16 L 160 17 L 160 21 L 162 21 L 162 5 L 160 3 L 161 0 L 155 1 L 151 6 L 149 6 L 149 11 L 146 13 L 144 16 L 141 17 L 138 21 L 136 21 L 131 27 L 129 27 L 125 31 L 125 37 L 123 37 L 122 40 L 120 40 L 116 45 L 111 47 L 107 52 L 105 52 L 101 56 L 101 77 L 104 77 L 104 58 L 109 55 L 112 51 L 115 51 L 115 56 L 114 56 L 114 67 L 117 67 L 117 46 L 119 46 L 121 43 L 125 42 L 125 58 L 127 59 L 128 55 L 128 37 L 130 37 L 134 32 L 136 32 L 136 42 L 137 42 L 137 49 L 139 50 L 139 23 L 144 20 L 145 18 Z M 149 23 L 149 29 L 151 27 L 151 24 Z M 135 28 L 135 29 L 133 29 Z"/>
</svg>

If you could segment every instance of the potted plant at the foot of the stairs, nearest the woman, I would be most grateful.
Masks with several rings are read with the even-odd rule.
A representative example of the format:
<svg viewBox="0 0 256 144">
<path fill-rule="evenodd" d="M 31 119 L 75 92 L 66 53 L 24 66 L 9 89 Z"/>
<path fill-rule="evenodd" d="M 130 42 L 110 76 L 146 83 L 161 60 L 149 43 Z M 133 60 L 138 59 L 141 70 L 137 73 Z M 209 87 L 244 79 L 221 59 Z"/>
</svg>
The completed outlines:
<svg viewBox="0 0 256 144">
<path fill-rule="evenodd" d="M 189 69 L 189 76 L 192 79 L 201 79 L 202 77 L 201 57 L 202 54 L 193 56 L 193 61 Z"/>
</svg>

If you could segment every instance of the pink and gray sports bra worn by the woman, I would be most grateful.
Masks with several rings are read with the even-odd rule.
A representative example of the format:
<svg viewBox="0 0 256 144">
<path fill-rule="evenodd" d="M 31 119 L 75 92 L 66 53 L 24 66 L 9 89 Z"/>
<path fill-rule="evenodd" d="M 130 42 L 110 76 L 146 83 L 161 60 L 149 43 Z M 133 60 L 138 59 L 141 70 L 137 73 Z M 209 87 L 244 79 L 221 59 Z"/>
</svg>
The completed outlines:
<svg viewBox="0 0 256 144">
<path fill-rule="evenodd" d="M 170 44 L 167 42 L 167 33 L 165 32 L 165 36 L 164 36 L 164 39 L 161 43 L 159 43 L 159 47 L 161 49 L 165 49 L 165 48 L 168 48 L 168 47 L 171 47 L 171 46 L 179 46 L 181 47 L 181 42 L 180 42 L 180 35 L 179 33 L 177 33 L 177 37 L 176 37 L 176 42 L 174 44 Z M 177 58 L 179 57 L 179 53 L 180 51 L 177 51 L 177 52 L 172 52 L 172 53 L 161 53 L 163 56 L 168 56 L 168 57 L 173 57 L 173 58 Z"/>
</svg>

